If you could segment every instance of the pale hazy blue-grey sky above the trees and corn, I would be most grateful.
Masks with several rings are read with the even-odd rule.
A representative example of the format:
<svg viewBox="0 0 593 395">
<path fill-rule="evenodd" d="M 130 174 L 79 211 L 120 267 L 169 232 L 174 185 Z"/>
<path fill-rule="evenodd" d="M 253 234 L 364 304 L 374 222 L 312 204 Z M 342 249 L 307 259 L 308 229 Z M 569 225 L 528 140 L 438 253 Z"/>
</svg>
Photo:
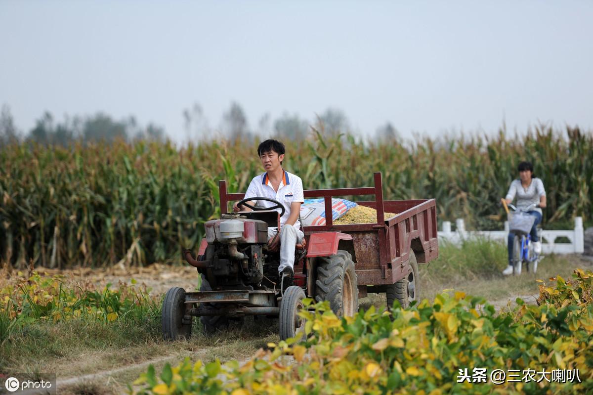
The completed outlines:
<svg viewBox="0 0 593 395">
<path fill-rule="evenodd" d="M 404 137 L 538 121 L 593 126 L 593 2 L 0 0 L 0 104 L 21 129 L 44 110 L 133 114 L 185 138 L 237 101 Z"/>
</svg>

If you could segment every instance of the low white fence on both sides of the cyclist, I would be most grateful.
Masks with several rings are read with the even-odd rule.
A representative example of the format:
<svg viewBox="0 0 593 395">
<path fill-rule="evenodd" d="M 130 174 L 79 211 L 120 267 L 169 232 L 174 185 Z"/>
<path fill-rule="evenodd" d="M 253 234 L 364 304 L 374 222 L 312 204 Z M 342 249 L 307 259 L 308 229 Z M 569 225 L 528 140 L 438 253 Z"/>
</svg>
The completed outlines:
<svg viewBox="0 0 593 395">
<path fill-rule="evenodd" d="M 438 232 L 439 240 L 448 240 L 451 243 L 460 243 L 471 237 L 485 237 L 490 240 L 499 240 L 506 244 L 509 234 L 509 223 L 505 222 L 505 230 L 502 231 L 466 231 L 463 219 L 455 220 L 457 230 L 451 231 L 451 222 L 444 221 L 442 231 Z M 556 243 L 560 237 L 566 237 L 570 243 Z M 573 230 L 543 230 L 541 232 L 541 252 L 544 254 L 582 254 L 585 251 L 585 232 L 583 219 L 575 218 Z"/>
</svg>

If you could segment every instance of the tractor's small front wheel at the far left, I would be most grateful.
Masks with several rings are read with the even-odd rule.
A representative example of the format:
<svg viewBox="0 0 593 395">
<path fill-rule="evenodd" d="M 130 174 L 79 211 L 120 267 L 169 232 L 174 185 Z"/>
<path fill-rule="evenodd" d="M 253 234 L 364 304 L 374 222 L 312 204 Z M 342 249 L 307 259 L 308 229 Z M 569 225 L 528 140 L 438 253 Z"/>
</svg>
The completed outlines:
<svg viewBox="0 0 593 395">
<path fill-rule="evenodd" d="M 185 317 L 185 290 L 174 286 L 162 301 L 161 325 L 165 340 L 188 339 L 192 335 L 192 317 Z"/>
</svg>

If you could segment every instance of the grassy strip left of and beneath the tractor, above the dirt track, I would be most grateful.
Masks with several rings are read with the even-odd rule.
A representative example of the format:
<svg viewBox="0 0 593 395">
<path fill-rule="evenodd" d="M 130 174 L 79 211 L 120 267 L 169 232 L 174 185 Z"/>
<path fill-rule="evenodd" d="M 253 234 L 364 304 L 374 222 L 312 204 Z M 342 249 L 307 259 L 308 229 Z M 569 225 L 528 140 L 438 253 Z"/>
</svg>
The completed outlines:
<svg viewBox="0 0 593 395">
<path fill-rule="evenodd" d="M 275 341 L 278 323 L 246 318 L 243 326 L 231 327 L 218 336 L 203 335 L 194 319 L 190 340 L 165 342 L 161 335 L 160 309 L 137 319 L 130 314 L 110 322 L 91 317 L 37 320 L 14 327 L 0 346 L 0 373 L 14 371 L 67 372 L 60 378 L 91 374 L 153 358 L 189 355 L 203 361 L 247 358 Z M 163 362 L 164 363 L 164 362 Z"/>
</svg>

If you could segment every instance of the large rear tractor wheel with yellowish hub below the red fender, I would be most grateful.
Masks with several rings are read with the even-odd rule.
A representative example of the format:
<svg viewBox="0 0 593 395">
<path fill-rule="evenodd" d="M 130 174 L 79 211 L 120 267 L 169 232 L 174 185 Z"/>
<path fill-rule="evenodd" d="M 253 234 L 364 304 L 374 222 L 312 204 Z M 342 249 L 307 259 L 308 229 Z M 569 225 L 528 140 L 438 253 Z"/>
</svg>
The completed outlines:
<svg viewBox="0 0 593 395">
<path fill-rule="evenodd" d="M 352 256 L 343 250 L 317 261 L 315 300 L 327 300 L 337 316 L 358 313 L 358 282 Z"/>
</svg>

